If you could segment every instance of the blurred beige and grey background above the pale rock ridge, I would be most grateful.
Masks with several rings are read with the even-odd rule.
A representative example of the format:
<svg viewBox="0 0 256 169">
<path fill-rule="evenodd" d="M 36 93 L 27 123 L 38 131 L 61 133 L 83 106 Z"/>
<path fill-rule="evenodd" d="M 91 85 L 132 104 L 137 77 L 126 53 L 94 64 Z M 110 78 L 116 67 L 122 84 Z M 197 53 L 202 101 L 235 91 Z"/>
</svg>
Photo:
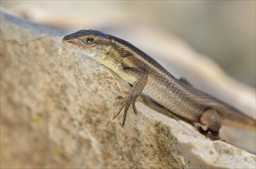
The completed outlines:
<svg viewBox="0 0 256 169">
<path fill-rule="evenodd" d="M 255 1 L 1 1 L 1 6 L 59 28 L 158 28 L 255 88 Z"/>
</svg>

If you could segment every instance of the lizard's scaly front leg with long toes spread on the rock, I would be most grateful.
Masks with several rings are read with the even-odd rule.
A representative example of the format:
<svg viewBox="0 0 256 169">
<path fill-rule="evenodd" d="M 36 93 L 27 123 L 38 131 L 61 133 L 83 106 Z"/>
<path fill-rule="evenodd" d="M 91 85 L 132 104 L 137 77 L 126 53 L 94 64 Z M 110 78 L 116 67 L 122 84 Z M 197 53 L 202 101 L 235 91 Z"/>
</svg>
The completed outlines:
<svg viewBox="0 0 256 169">
<path fill-rule="evenodd" d="M 130 93 L 127 94 L 122 101 L 120 101 L 120 104 L 121 104 L 120 109 L 113 116 L 113 120 L 114 120 L 124 108 L 122 127 L 124 127 L 124 124 L 126 122 L 126 114 L 131 104 L 133 105 L 133 112 L 134 114 L 136 114 L 135 101 L 136 101 L 136 98 L 143 91 L 143 88 L 145 88 L 145 85 L 147 84 L 147 77 L 148 77 L 147 73 L 138 71 L 134 68 L 124 68 L 123 71 L 128 75 L 132 75 L 133 77 L 136 77 L 136 81 L 133 85 L 133 88 L 130 90 Z"/>
</svg>

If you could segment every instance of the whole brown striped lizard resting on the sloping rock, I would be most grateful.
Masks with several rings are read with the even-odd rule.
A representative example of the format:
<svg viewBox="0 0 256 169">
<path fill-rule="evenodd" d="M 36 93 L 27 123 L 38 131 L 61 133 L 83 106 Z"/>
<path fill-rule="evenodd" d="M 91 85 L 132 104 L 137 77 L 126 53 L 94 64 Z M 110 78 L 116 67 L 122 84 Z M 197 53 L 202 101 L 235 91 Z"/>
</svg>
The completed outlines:
<svg viewBox="0 0 256 169">
<path fill-rule="evenodd" d="M 132 86 L 130 92 L 119 101 L 120 108 L 113 116 L 114 120 L 123 111 L 123 127 L 130 106 L 137 114 L 136 98 L 143 92 L 173 114 L 202 124 L 212 133 L 218 134 L 222 124 L 252 131 L 256 129 L 253 118 L 194 88 L 186 80 L 175 78 L 128 41 L 102 31 L 82 29 L 66 35 L 62 42 L 94 58 Z"/>
</svg>

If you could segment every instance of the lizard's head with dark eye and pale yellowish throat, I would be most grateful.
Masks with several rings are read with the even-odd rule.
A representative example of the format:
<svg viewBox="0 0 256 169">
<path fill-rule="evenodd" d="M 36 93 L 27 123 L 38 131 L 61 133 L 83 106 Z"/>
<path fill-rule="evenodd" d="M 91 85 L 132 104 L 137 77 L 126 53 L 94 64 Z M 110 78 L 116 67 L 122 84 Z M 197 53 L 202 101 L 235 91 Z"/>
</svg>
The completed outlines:
<svg viewBox="0 0 256 169">
<path fill-rule="evenodd" d="M 99 57 L 106 55 L 112 44 L 109 35 L 96 30 L 80 30 L 66 35 L 62 42 L 72 48 L 77 48 L 90 57 Z"/>
</svg>

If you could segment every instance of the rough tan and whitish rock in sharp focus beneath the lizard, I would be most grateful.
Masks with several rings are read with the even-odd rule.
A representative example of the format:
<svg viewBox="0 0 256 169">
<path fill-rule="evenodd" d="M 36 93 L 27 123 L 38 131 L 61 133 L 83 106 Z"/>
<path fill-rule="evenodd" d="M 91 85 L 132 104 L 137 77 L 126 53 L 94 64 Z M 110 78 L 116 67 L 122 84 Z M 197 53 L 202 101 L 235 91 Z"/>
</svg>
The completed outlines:
<svg viewBox="0 0 256 169">
<path fill-rule="evenodd" d="M 210 141 L 136 101 L 112 121 L 130 86 L 61 44 L 65 32 L 1 12 L 1 167 L 254 168 L 256 157 Z"/>
</svg>

